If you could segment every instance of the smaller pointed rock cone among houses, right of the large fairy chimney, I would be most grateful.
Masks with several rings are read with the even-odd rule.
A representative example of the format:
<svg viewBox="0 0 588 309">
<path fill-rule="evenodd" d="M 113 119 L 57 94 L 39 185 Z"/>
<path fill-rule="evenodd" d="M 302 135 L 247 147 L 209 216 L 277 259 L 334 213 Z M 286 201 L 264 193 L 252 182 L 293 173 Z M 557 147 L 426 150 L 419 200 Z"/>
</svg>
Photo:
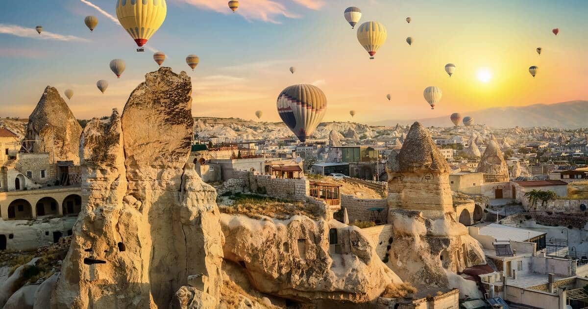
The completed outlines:
<svg viewBox="0 0 588 309">
<path fill-rule="evenodd" d="M 480 159 L 476 172 L 484 173 L 484 182 L 509 181 L 509 168 L 495 137 L 492 137 L 488 142 L 488 147 Z"/>
</svg>

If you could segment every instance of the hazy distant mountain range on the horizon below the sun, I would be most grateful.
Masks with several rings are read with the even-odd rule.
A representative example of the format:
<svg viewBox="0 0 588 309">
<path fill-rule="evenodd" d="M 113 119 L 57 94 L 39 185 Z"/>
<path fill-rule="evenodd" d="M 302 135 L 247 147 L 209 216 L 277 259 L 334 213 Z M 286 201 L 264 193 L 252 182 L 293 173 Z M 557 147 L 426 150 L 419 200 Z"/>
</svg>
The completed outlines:
<svg viewBox="0 0 588 309">
<path fill-rule="evenodd" d="M 470 116 L 475 124 L 492 128 L 519 127 L 588 127 L 588 101 L 570 101 L 555 104 L 535 104 L 525 107 L 495 107 L 473 112 L 460 112 L 462 117 Z M 425 119 L 390 119 L 370 123 L 371 125 L 392 126 L 419 121 L 426 127 L 448 127 L 452 125 L 449 115 Z M 463 124 L 460 124 L 463 125 Z"/>
</svg>

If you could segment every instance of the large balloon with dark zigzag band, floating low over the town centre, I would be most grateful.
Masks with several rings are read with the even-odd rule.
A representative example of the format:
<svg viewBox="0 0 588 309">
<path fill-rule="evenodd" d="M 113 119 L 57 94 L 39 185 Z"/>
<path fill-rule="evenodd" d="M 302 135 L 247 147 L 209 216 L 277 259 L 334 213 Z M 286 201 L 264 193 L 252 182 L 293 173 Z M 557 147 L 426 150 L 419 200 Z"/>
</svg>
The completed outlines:
<svg viewBox="0 0 588 309">
<path fill-rule="evenodd" d="M 283 89 L 276 105 L 282 121 L 304 142 L 325 116 L 327 98 L 318 87 L 299 84 Z"/>
</svg>

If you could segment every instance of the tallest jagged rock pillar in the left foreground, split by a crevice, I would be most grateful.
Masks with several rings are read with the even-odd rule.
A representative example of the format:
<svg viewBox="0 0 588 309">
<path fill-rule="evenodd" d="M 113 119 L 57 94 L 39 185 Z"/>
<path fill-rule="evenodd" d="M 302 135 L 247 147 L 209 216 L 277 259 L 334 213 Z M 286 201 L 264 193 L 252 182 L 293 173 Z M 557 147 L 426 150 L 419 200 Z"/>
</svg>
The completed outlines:
<svg viewBox="0 0 588 309">
<path fill-rule="evenodd" d="M 215 190 L 186 164 L 191 91 L 185 72 L 162 67 L 122 118 L 84 129 L 82 211 L 52 308 L 169 308 L 189 276 L 218 303 L 224 237 Z"/>
</svg>

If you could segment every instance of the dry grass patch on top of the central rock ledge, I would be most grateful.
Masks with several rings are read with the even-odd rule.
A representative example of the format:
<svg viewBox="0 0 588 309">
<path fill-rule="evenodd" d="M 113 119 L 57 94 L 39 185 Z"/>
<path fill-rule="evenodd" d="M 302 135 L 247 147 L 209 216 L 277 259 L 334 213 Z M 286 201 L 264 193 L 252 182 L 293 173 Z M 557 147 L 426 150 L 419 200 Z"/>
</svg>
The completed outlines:
<svg viewBox="0 0 588 309">
<path fill-rule="evenodd" d="M 288 219 L 293 215 L 305 215 L 313 220 L 318 220 L 320 217 L 315 205 L 305 204 L 300 201 L 243 193 L 231 195 L 229 198 L 234 201 L 233 204 L 219 205 L 220 212 L 232 215 L 246 215 L 254 219 L 260 219 L 262 215 L 280 220 Z"/>
</svg>

